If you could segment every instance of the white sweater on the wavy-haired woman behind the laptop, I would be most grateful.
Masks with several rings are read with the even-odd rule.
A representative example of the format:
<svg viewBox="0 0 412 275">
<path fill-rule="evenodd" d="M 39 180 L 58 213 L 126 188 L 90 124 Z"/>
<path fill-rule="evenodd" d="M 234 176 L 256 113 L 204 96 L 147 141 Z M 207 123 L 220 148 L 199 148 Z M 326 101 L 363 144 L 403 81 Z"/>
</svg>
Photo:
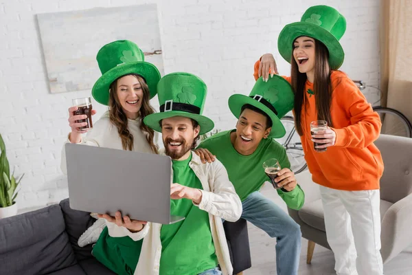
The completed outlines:
<svg viewBox="0 0 412 275">
<path fill-rule="evenodd" d="M 143 133 L 139 128 L 139 119 L 128 119 L 127 126 L 128 130 L 133 135 L 133 151 L 141 153 L 153 153 L 152 149 L 150 148 L 146 140 L 146 133 Z M 155 132 L 154 141 L 157 139 L 157 135 L 157 132 Z M 67 137 L 65 144 L 69 142 L 70 140 Z M 93 129 L 89 130 L 89 132 L 87 132 L 86 137 L 82 138 L 82 140 L 78 144 L 120 150 L 123 149 L 122 140 L 120 139 L 119 132 L 117 131 L 117 127 L 110 122 L 110 119 L 108 117 L 108 111 L 106 111 L 106 113 L 102 115 L 102 118 L 100 118 L 100 120 L 93 123 Z M 62 159 L 60 162 L 60 168 L 62 170 L 62 173 L 67 175 L 66 152 L 64 144 L 62 148 Z"/>
</svg>

